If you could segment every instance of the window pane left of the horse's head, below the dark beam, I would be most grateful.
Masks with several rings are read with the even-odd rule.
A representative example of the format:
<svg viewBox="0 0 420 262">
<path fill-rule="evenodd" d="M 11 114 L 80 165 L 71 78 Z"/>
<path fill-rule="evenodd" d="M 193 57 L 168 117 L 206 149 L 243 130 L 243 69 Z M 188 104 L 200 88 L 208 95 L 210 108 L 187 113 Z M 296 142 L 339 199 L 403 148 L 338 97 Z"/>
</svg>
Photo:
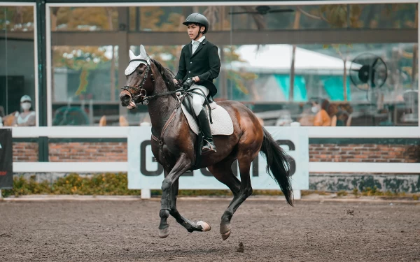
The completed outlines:
<svg viewBox="0 0 420 262">
<path fill-rule="evenodd" d="M 52 47 L 53 125 L 118 121 L 118 46 Z"/>
</svg>

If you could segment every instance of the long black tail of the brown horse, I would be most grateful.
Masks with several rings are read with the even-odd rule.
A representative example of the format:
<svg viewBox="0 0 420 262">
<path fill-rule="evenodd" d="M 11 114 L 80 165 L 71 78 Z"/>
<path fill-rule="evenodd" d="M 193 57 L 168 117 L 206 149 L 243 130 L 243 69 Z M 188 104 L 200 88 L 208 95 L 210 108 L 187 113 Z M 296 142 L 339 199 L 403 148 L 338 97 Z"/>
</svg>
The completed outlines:
<svg viewBox="0 0 420 262">
<path fill-rule="evenodd" d="M 293 190 L 289 175 L 290 157 L 277 145 L 268 131 L 264 127 L 262 129 L 264 130 L 264 140 L 262 140 L 261 152 L 267 159 L 267 173 L 269 174 L 269 170 L 272 171 L 273 178 L 283 191 L 287 203 L 293 206 Z"/>
</svg>

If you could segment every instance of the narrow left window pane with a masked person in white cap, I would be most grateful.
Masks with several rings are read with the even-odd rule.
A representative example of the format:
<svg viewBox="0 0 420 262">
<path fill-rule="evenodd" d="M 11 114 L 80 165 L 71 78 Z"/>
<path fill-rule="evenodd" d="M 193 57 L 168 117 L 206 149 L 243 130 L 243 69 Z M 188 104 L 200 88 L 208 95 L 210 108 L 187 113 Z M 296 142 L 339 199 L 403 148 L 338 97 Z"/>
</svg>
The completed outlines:
<svg viewBox="0 0 420 262">
<path fill-rule="evenodd" d="M 34 7 L 0 6 L 0 27 L 0 126 L 35 126 Z"/>
</svg>

